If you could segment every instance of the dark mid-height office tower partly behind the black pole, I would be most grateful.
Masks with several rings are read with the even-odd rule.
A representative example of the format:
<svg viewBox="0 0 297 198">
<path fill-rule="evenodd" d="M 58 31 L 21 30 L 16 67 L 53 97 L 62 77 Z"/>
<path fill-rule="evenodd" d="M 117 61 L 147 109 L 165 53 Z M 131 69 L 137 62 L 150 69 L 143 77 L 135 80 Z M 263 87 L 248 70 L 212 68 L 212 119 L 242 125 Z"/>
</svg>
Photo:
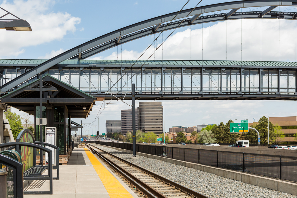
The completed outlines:
<svg viewBox="0 0 297 198">
<path fill-rule="evenodd" d="M 135 130 L 138 130 L 138 108 L 135 108 Z M 132 108 L 121 110 L 122 133 L 132 132 Z"/>
</svg>

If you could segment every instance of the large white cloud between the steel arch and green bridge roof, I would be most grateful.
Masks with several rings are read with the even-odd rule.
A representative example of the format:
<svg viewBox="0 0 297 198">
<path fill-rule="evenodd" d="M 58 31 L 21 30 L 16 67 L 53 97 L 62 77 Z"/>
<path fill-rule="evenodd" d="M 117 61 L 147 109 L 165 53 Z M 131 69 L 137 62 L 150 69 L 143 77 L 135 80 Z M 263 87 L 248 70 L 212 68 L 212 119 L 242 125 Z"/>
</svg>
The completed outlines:
<svg viewBox="0 0 297 198">
<path fill-rule="evenodd" d="M 150 59 L 164 60 L 226 60 L 227 56 L 227 60 L 241 60 L 242 58 L 242 60 L 249 61 L 279 61 L 280 58 L 281 61 L 295 61 L 294 23 L 293 20 L 262 19 L 261 22 L 260 19 L 246 19 L 219 22 L 203 30 L 200 28 L 191 32 L 188 28 L 172 34 L 163 46 L 159 47 L 160 44 L 158 44 L 159 49 L 153 56 L 151 54 L 154 52 L 154 46 L 149 47 L 140 59 L 147 59 L 151 56 Z M 281 45 L 279 45 L 279 39 Z M 109 56 L 92 59 L 138 59 L 144 51 L 145 49 L 141 52 L 123 49 L 122 53 L 113 52 Z"/>
</svg>

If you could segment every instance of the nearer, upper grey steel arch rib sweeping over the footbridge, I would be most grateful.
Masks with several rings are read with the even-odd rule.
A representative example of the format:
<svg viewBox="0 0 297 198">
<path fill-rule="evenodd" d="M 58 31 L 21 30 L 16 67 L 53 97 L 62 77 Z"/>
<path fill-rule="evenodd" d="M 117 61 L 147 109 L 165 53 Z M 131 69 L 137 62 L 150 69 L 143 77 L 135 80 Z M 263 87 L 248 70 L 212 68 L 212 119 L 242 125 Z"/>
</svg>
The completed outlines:
<svg viewBox="0 0 297 198">
<path fill-rule="evenodd" d="M 133 32 L 149 28 L 152 26 L 159 26 L 159 24 L 166 23 L 171 21 L 174 17 L 176 19 L 181 19 L 186 17 L 187 15 L 193 16 L 193 18 L 197 18 L 197 15 L 201 15 L 204 13 L 210 13 L 210 12 L 216 12 L 221 10 L 228 10 L 228 9 L 239 9 L 239 8 L 247 8 L 247 7 L 269 7 L 268 12 L 271 9 L 274 9 L 278 6 L 297 6 L 297 0 L 242 0 L 242 1 L 232 1 L 232 2 L 225 2 L 225 3 L 219 3 L 219 4 L 212 4 L 212 5 L 206 5 L 201 7 L 196 7 L 194 10 L 191 9 L 185 9 L 181 12 L 173 12 L 166 15 L 161 15 L 155 18 L 151 18 L 148 20 L 144 20 L 129 26 L 126 26 L 124 28 L 120 28 L 118 30 L 112 31 L 110 33 L 107 33 L 105 35 L 102 35 L 100 37 L 97 37 L 95 39 L 92 39 L 88 42 L 85 42 L 81 45 L 78 45 L 76 47 L 73 47 L 70 50 L 67 50 L 64 53 L 59 54 L 58 56 L 55 56 L 48 61 L 45 61 L 44 63 L 35 66 L 33 69 L 25 72 L 24 74 L 14 78 L 13 80 L 5 83 L 1 86 L 1 91 L 9 91 L 14 87 L 17 87 L 21 83 L 25 82 L 26 80 L 42 73 L 46 69 L 64 61 L 67 60 L 73 56 L 80 56 L 82 52 L 90 50 L 98 45 L 101 45 L 105 42 L 112 41 L 113 39 L 121 38 L 124 35 L 131 34 Z M 267 9 L 266 9 L 267 10 Z M 267 11 L 264 10 L 261 12 L 260 17 L 263 17 L 267 13 Z M 191 13 L 191 14 L 189 14 Z M 177 16 L 176 16 L 177 15 Z M 229 16 L 229 18 L 232 15 Z"/>
</svg>

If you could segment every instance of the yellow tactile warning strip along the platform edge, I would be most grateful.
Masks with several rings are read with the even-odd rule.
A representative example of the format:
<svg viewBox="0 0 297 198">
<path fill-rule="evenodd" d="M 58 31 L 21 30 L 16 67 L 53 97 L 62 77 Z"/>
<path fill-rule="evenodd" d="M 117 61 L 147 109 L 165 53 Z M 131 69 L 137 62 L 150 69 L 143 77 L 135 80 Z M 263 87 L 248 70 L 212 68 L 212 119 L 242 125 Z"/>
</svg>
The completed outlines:
<svg viewBox="0 0 297 198">
<path fill-rule="evenodd" d="M 84 148 L 95 171 L 99 175 L 110 198 L 132 197 L 132 195 L 121 185 L 121 183 L 100 163 L 100 161 L 87 149 Z"/>
</svg>

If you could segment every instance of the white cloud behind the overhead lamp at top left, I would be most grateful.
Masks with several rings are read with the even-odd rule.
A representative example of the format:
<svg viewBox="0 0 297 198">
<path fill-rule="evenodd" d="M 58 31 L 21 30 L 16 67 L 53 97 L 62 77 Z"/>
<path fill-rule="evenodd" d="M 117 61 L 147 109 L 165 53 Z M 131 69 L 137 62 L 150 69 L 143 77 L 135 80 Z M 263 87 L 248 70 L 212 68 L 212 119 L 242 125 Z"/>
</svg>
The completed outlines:
<svg viewBox="0 0 297 198">
<path fill-rule="evenodd" d="M 24 53 L 24 47 L 36 46 L 53 40 L 62 39 L 67 32 L 76 31 L 75 25 L 80 23 L 80 18 L 69 13 L 48 12 L 54 1 L 18 0 L 10 3 L 3 1 L 0 7 L 28 21 L 31 32 L 1 31 L 0 48 L 1 57 L 17 57 Z M 1 13 L 0 13 L 1 14 Z M 6 17 L 13 18 L 11 15 Z"/>
</svg>

